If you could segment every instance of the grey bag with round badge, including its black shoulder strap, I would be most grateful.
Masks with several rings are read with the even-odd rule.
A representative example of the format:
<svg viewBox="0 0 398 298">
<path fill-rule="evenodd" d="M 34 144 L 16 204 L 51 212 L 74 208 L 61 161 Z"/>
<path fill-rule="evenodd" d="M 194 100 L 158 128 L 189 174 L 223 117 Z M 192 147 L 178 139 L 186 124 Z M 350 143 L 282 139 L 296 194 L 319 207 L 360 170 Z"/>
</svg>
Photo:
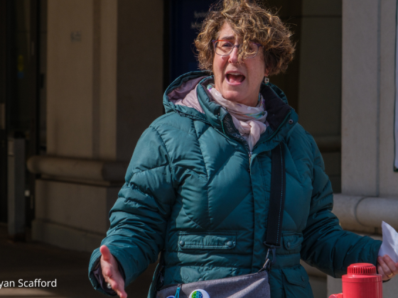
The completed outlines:
<svg viewBox="0 0 398 298">
<path fill-rule="evenodd" d="M 279 143 L 272 150 L 271 194 L 269 197 L 269 212 L 267 226 L 267 241 L 269 247 L 265 263 L 257 273 L 226 277 L 220 280 L 203 280 L 188 284 L 167 285 L 158 289 L 156 298 L 270 298 L 268 272 L 271 265 L 276 263 L 276 248 L 281 247 L 281 226 L 284 214 L 286 193 L 286 171 L 284 162 L 284 144 Z M 269 253 L 272 254 L 270 260 Z M 161 268 L 159 276 L 163 283 L 163 253 L 161 254 Z"/>
</svg>

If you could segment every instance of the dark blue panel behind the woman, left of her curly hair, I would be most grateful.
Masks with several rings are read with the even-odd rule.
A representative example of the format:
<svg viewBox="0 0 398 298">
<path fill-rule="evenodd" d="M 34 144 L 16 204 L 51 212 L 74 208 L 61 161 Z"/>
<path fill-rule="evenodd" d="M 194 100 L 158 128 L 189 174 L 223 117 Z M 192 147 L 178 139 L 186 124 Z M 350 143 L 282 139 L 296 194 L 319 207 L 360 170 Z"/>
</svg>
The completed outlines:
<svg viewBox="0 0 398 298">
<path fill-rule="evenodd" d="M 170 82 L 186 72 L 199 70 L 193 41 L 215 0 L 170 1 Z"/>
</svg>

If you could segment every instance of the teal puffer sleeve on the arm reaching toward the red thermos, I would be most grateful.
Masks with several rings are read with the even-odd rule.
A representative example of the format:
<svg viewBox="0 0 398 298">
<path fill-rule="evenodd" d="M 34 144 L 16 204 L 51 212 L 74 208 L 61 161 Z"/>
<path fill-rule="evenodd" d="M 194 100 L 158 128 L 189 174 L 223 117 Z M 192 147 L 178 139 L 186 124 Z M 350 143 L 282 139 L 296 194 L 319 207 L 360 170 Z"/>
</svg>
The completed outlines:
<svg viewBox="0 0 398 298">
<path fill-rule="evenodd" d="M 312 136 L 313 192 L 306 228 L 303 231 L 301 259 L 333 277 L 347 273 L 353 263 L 377 263 L 381 241 L 344 231 L 332 213 L 333 190 Z"/>
</svg>

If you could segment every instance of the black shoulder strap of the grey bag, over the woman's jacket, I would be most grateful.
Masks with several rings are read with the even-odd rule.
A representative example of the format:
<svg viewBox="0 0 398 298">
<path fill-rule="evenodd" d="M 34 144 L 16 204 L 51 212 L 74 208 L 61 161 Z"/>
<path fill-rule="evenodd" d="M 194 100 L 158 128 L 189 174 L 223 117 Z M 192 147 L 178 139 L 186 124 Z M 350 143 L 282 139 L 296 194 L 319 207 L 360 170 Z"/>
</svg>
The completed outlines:
<svg viewBox="0 0 398 298">
<path fill-rule="evenodd" d="M 273 260 L 276 263 L 275 248 L 281 247 L 282 221 L 284 219 L 284 204 L 286 194 L 286 170 L 284 160 L 284 145 L 279 143 L 271 151 L 271 194 L 269 196 L 267 239 L 264 242 L 269 246 Z"/>
</svg>

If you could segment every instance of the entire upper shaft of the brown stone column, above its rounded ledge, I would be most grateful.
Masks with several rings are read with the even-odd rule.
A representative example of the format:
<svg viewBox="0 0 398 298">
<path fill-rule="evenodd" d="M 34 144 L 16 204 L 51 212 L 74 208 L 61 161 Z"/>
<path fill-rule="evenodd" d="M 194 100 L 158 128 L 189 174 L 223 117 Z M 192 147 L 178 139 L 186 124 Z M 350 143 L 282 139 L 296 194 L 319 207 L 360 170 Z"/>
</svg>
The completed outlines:
<svg viewBox="0 0 398 298">
<path fill-rule="evenodd" d="M 129 160 L 163 113 L 163 1 L 48 1 L 47 63 L 48 155 Z"/>
</svg>

